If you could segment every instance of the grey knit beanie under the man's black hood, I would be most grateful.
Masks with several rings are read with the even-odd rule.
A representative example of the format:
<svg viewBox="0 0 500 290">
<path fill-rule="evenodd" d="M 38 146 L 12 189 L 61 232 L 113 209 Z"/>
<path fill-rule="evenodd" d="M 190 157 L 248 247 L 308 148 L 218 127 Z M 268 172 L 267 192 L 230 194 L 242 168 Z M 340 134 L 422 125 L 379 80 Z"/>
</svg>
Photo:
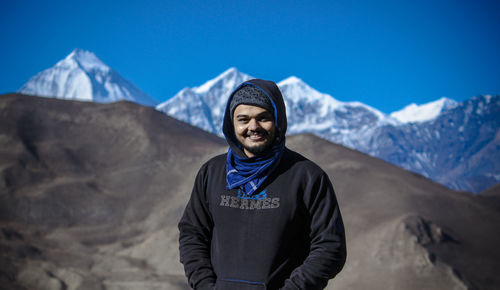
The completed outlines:
<svg viewBox="0 0 500 290">
<path fill-rule="evenodd" d="M 258 106 L 274 115 L 273 105 L 269 97 L 266 96 L 262 90 L 254 86 L 243 86 L 233 94 L 231 104 L 229 105 L 231 109 L 231 120 L 233 119 L 234 109 L 241 104 Z"/>
</svg>

